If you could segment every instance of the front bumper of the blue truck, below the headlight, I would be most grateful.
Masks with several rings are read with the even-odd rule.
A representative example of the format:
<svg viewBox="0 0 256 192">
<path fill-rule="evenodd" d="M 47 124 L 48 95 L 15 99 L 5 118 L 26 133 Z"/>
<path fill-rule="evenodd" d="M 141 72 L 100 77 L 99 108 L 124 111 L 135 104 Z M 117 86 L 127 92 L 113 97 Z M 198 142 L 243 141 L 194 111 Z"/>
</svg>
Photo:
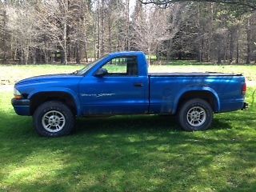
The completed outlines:
<svg viewBox="0 0 256 192">
<path fill-rule="evenodd" d="M 11 99 L 11 104 L 18 115 L 30 115 L 30 100 L 29 99 Z"/>
</svg>

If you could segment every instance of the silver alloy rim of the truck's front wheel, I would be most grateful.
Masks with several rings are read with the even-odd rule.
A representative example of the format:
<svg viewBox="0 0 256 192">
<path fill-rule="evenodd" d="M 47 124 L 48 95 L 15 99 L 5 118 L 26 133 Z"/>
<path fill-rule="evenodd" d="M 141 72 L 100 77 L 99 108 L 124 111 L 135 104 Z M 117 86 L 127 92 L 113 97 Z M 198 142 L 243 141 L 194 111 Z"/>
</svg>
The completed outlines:
<svg viewBox="0 0 256 192">
<path fill-rule="evenodd" d="M 42 117 L 42 126 L 50 133 L 56 133 L 62 130 L 65 124 L 66 119 L 58 110 L 50 110 Z"/>
</svg>

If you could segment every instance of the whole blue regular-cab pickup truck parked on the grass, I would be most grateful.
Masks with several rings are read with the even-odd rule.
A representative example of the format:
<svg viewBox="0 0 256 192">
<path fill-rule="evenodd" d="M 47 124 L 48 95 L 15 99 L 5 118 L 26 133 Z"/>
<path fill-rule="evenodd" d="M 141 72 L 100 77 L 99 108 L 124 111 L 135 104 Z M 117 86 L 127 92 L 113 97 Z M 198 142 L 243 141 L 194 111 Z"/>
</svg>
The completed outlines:
<svg viewBox="0 0 256 192">
<path fill-rule="evenodd" d="M 184 130 L 206 130 L 214 113 L 246 109 L 242 74 L 148 73 L 139 51 L 106 54 L 72 74 L 26 78 L 12 105 L 31 115 L 38 134 L 70 134 L 76 117 L 175 114 Z"/>
</svg>

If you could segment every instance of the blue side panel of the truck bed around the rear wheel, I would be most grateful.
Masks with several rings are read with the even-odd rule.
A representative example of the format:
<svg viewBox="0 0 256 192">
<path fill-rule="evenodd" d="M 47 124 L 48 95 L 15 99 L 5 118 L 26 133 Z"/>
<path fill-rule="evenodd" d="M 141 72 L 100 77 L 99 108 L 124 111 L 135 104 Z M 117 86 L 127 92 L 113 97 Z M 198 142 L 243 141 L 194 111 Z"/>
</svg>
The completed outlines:
<svg viewBox="0 0 256 192">
<path fill-rule="evenodd" d="M 150 113 L 175 114 L 179 99 L 190 92 L 207 92 L 214 96 L 214 111 L 242 109 L 242 76 L 150 77 Z"/>
</svg>

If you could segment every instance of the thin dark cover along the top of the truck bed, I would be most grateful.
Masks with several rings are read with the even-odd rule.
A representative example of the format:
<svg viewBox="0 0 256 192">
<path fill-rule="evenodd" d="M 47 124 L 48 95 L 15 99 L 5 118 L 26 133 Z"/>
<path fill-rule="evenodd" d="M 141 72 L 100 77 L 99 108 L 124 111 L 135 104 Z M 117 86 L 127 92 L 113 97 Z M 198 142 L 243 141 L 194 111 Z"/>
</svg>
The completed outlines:
<svg viewBox="0 0 256 192">
<path fill-rule="evenodd" d="M 149 73 L 150 77 L 170 77 L 170 76 L 242 76 L 242 74 L 223 74 L 218 72 L 191 72 L 191 73 Z"/>
</svg>

